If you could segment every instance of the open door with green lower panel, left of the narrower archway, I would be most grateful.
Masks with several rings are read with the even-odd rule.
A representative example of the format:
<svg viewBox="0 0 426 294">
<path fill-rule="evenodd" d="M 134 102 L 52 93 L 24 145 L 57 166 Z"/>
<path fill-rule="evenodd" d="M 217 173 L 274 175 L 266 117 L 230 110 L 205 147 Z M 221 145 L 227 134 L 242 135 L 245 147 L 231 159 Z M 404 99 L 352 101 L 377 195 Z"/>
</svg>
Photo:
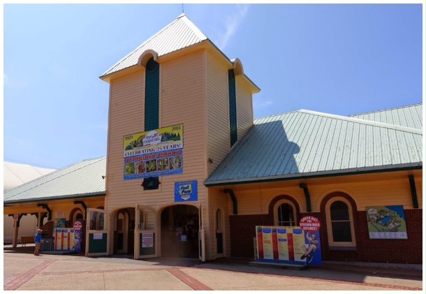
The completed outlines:
<svg viewBox="0 0 426 294">
<path fill-rule="evenodd" d="M 87 208 L 86 256 L 110 254 L 110 218 L 105 210 Z"/>
</svg>

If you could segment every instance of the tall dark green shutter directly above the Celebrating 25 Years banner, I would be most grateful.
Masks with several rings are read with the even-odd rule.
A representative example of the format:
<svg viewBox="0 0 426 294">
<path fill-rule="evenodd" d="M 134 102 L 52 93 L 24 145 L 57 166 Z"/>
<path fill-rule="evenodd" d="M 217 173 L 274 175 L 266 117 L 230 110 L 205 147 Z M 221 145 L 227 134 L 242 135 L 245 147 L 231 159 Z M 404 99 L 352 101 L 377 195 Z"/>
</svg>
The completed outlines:
<svg viewBox="0 0 426 294">
<path fill-rule="evenodd" d="M 159 128 L 160 65 L 148 60 L 145 71 L 145 131 Z"/>
</svg>

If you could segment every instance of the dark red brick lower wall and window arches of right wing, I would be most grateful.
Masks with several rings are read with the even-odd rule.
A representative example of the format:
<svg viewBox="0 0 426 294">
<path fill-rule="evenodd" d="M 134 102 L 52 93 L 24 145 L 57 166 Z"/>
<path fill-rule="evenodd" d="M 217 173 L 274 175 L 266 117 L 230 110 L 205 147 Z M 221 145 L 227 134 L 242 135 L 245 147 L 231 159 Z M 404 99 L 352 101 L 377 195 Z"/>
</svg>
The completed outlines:
<svg viewBox="0 0 426 294">
<path fill-rule="evenodd" d="M 347 194 L 346 194 L 347 195 Z M 342 196 L 341 193 L 339 196 Z M 356 251 L 329 250 L 327 221 L 324 198 L 321 212 L 300 213 L 296 203 L 298 223 L 303 216 L 312 215 L 321 221 L 320 238 L 323 260 L 358 261 L 372 263 L 423 263 L 423 210 L 404 210 L 407 240 L 371 240 L 367 228 L 367 212 L 357 211 L 355 202 L 350 196 L 344 196 L 352 205 L 355 229 Z M 253 258 L 253 238 L 256 237 L 256 226 L 274 226 L 273 207 L 280 199 L 290 196 L 278 196 L 270 205 L 269 214 L 230 215 L 230 251 L 232 257 Z M 332 198 L 332 195 L 330 195 Z"/>
</svg>

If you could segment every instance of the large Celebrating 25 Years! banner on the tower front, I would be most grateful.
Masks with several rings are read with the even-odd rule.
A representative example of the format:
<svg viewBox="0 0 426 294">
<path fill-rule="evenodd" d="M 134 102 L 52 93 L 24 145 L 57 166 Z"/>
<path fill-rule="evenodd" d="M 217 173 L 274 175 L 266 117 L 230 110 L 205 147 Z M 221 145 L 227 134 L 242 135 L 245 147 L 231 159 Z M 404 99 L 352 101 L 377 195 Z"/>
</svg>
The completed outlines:
<svg viewBox="0 0 426 294">
<path fill-rule="evenodd" d="M 124 136 L 124 179 L 182 173 L 183 124 Z"/>
</svg>

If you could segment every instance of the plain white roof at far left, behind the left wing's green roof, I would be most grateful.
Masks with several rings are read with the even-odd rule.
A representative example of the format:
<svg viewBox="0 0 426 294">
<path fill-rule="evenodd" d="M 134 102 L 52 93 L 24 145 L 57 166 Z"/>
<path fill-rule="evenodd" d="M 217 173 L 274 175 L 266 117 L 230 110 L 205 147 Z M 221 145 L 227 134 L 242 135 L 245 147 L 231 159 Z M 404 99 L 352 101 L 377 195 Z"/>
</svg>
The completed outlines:
<svg viewBox="0 0 426 294">
<path fill-rule="evenodd" d="M 38 168 L 29 164 L 3 161 L 3 192 L 53 171 L 52 168 Z"/>
</svg>

